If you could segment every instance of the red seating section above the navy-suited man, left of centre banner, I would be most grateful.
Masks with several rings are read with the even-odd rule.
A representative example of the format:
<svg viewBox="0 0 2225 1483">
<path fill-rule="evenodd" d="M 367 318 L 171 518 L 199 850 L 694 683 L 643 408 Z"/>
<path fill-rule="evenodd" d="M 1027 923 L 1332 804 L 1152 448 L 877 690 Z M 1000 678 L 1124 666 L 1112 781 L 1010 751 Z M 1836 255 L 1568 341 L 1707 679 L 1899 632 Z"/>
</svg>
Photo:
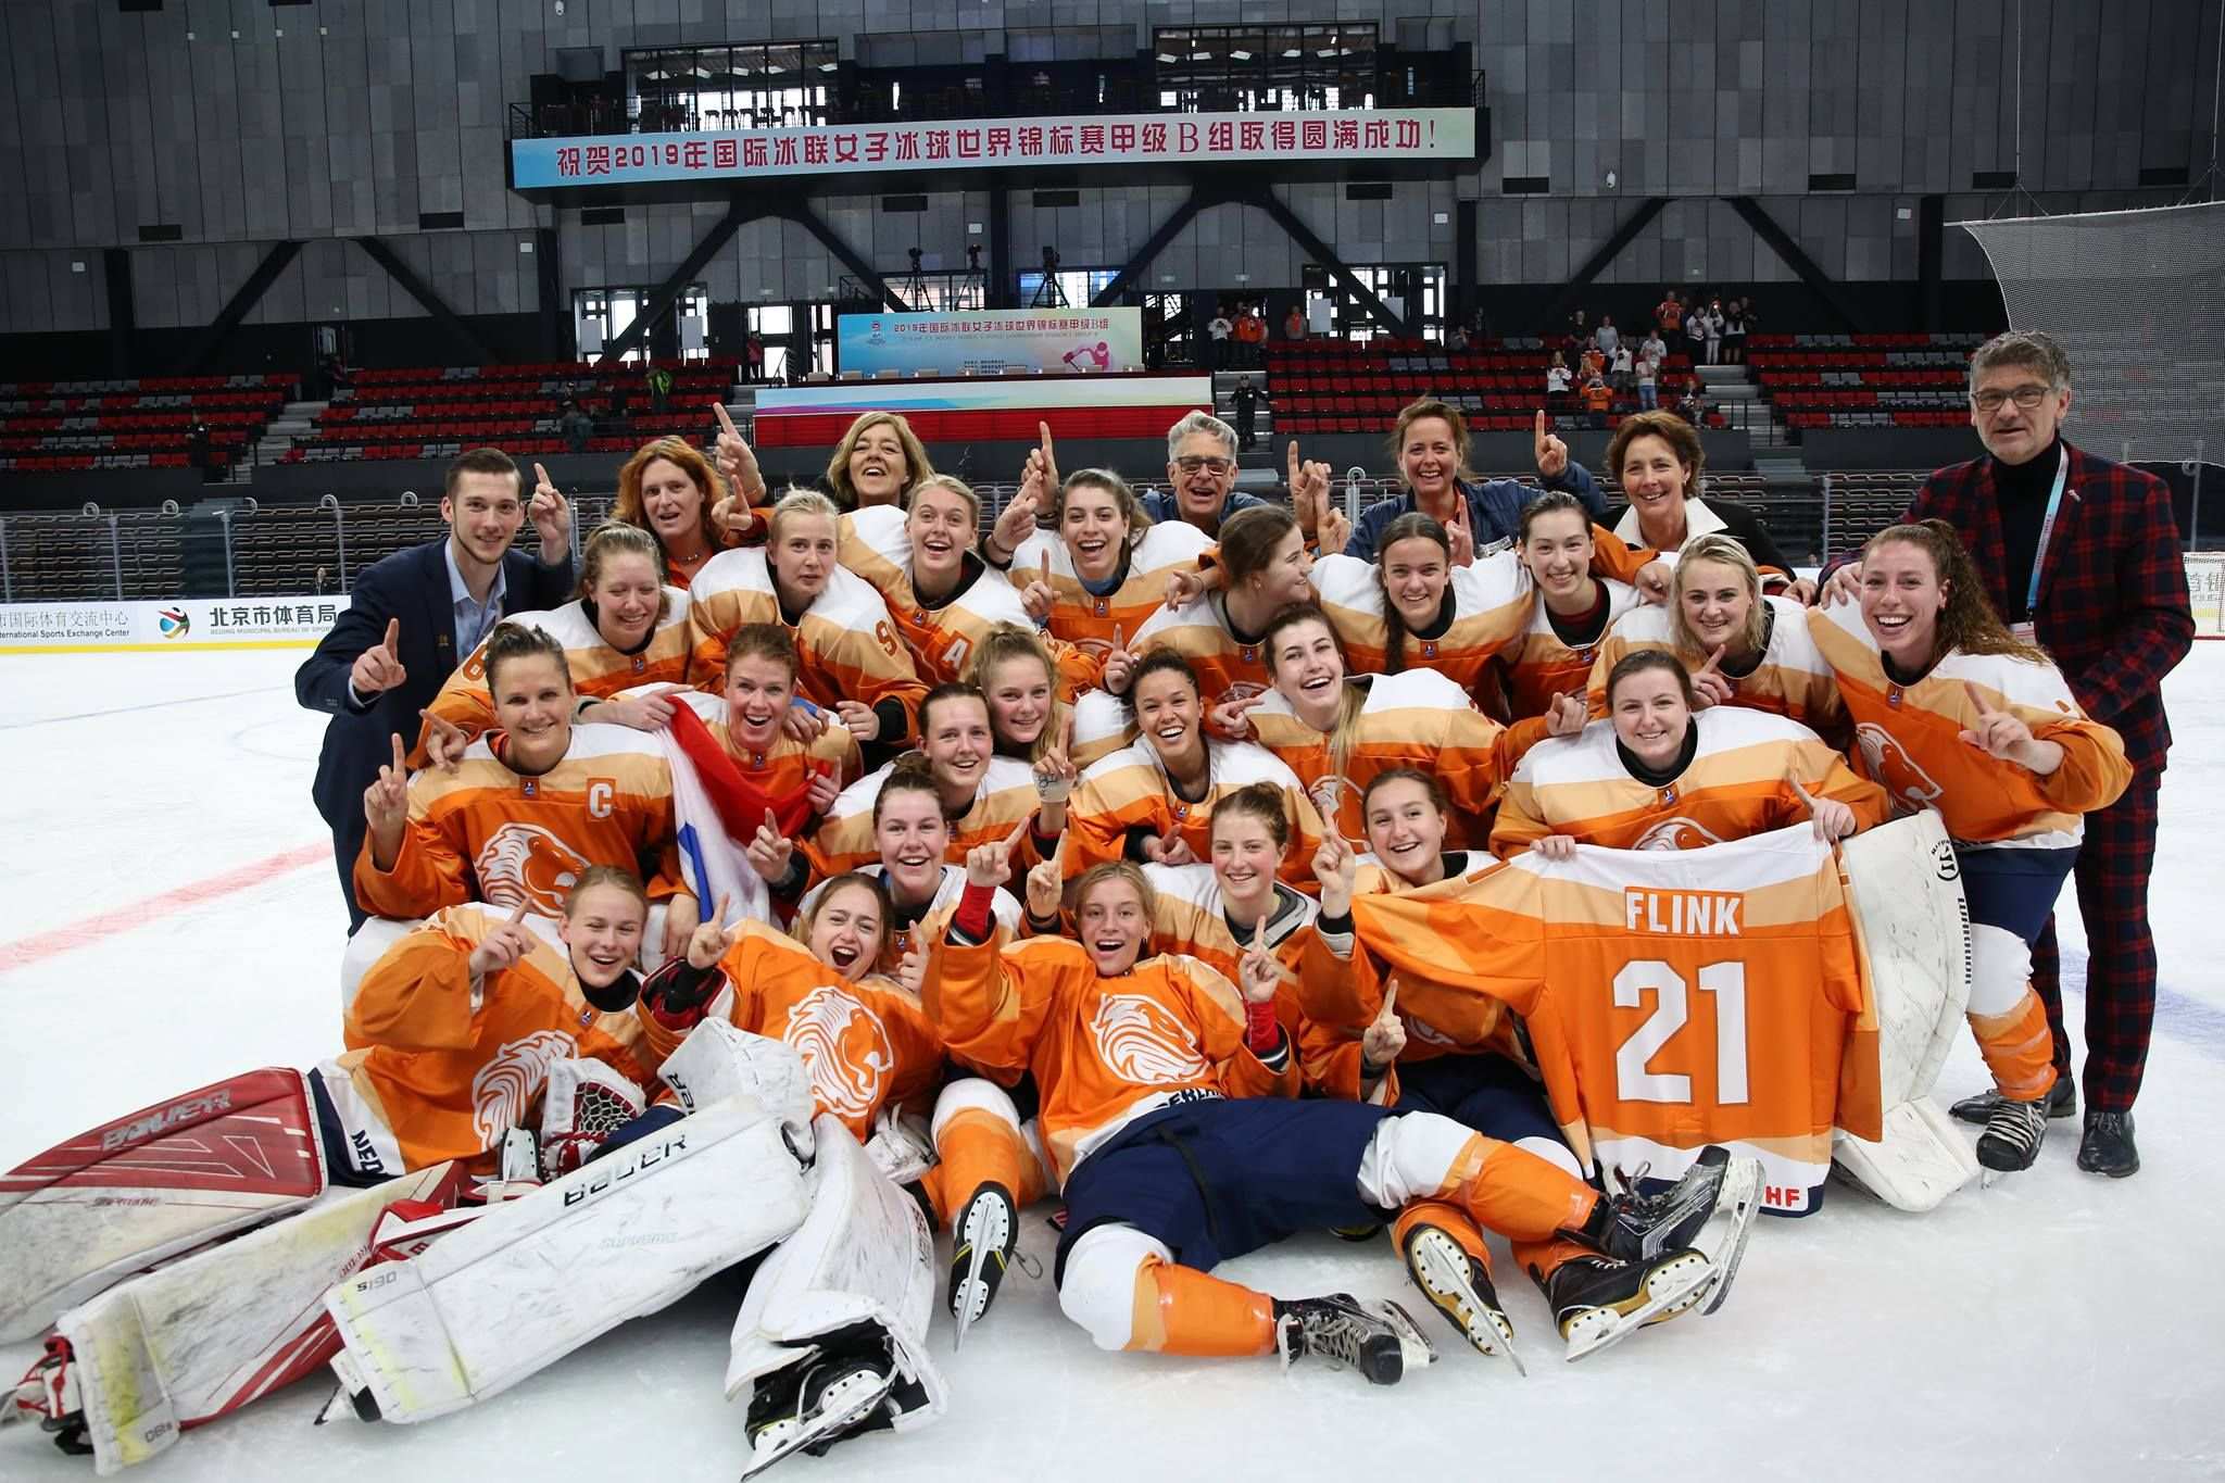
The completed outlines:
<svg viewBox="0 0 2225 1483">
<path fill-rule="evenodd" d="M 668 360 L 672 398 L 652 411 L 645 367 L 585 367 L 576 360 L 487 367 L 405 367 L 356 371 L 316 418 L 316 436 L 285 454 L 285 462 L 347 462 L 358 458 L 454 458 L 485 442 L 530 458 L 563 454 L 565 400 L 596 420 L 587 447 L 630 454 L 659 434 L 703 438 L 710 402 L 728 400 L 734 360 Z M 625 411 L 619 387 L 625 389 Z"/>
</svg>

